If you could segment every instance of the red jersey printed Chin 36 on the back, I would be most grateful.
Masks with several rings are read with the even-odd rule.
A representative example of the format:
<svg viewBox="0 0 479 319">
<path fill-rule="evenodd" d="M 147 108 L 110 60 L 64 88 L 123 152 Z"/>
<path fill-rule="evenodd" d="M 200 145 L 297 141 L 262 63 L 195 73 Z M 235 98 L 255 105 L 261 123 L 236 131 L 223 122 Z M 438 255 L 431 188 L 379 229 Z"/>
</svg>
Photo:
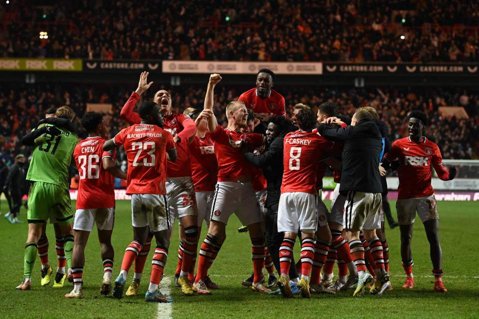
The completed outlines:
<svg viewBox="0 0 479 319">
<path fill-rule="evenodd" d="M 80 141 L 73 151 L 80 175 L 76 209 L 115 207 L 115 180 L 102 164 L 104 157 L 115 160 L 115 151 L 103 151 L 106 141 L 103 137 L 88 137 Z"/>
</svg>

